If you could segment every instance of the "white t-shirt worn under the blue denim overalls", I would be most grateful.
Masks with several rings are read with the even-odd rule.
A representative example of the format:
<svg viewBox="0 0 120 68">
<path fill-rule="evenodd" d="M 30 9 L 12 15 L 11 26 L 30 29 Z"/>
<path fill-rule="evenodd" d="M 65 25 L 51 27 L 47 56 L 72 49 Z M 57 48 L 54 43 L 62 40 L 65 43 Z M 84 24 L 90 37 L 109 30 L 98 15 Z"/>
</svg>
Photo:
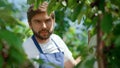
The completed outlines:
<svg viewBox="0 0 120 68">
<path fill-rule="evenodd" d="M 55 52 L 59 52 L 59 50 L 57 49 L 57 46 L 55 45 L 55 43 L 51 40 L 51 38 L 55 41 L 55 43 L 58 45 L 59 49 L 64 52 L 64 62 L 66 62 L 67 60 L 72 60 L 72 53 L 70 52 L 70 50 L 68 49 L 68 47 L 66 46 L 66 44 L 63 42 L 63 40 L 56 34 L 52 34 L 50 36 L 50 39 L 47 43 L 45 44 L 40 44 L 40 47 L 42 49 L 42 51 L 44 53 L 55 53 Z M 39 50 L 37 49 L 37 47 L 35 46 L 32 38 L 28 38 L 24 43 L 23 43 L 23 48 L 25 50 L 25 53 L 27 54 L 29 59 L 33 59 L 33 58 L 39 58 Z M 38 68 L 38 64 L 34 63 L 35 68 Z"/>
</svg>

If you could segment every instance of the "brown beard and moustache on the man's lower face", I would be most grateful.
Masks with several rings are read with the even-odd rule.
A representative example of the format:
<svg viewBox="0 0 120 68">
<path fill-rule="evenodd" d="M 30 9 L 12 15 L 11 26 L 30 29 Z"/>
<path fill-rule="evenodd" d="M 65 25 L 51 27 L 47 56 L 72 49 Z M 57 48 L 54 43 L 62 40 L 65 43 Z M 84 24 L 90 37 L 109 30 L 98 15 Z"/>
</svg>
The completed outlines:
<svg viewBox="0 0 120 68">
<path fill-rule="evenodd" d="M 42 29 L 42 30 L 39 30 L 38 32 L 32 29 L 32 31 L 34 35 L 40 40 L 47 40 L 50 37 L 50 35 L 53 33 L 53 31 L 49 31 L 47 29 Z"/>
</svg>

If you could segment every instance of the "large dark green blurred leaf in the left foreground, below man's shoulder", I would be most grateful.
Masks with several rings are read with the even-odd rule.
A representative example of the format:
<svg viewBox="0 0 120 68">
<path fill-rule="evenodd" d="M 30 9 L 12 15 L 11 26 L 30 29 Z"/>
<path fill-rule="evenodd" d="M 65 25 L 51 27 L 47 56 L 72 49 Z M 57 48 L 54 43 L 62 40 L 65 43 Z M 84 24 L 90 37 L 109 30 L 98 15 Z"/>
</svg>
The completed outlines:
<svg viewBox="0 0 120 68">
<path fill-rule="evenodd" d="M 0 40 L 5 41 L 6 44 L 4 44 L 4 46 L 9 47 L 6 49 L 9 56 L 6 60 L 8 62 L 7 65 L 12 66 L 15 64 L 16 66 L 19 66 L 20 64 L 23 64 L 26 60 L 26 55 L 21 46 L 21 39 L 10 31 L 0 30 Z"/>
</svg>

